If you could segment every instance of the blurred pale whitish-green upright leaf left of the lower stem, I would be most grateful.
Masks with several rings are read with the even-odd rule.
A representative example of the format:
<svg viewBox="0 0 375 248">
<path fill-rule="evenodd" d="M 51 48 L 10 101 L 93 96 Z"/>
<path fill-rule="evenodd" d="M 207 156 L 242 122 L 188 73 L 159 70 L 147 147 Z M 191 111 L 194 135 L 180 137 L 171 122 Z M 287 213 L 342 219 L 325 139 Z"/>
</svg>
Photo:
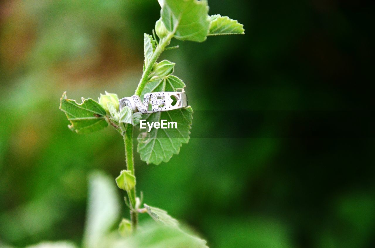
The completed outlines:
<svg viewBox="0 0 375 248">
<path fill-rule="evenodd" d="M 96 171 L 89 175 L 89 196 L 83 247 L 101 248 L 120 215 L 113 178 Z"/>
</svg>

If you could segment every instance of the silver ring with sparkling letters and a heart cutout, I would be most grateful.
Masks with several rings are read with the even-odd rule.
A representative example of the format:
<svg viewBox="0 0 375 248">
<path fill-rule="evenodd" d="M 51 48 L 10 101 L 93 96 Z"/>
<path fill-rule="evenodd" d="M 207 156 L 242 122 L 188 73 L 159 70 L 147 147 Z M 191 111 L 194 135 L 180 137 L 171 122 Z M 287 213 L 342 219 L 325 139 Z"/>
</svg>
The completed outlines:
<svg viewBox="0 0 375 248">
<path fill-rule="evenodd" d="M 172 105 L 174 99 L 177 102 Z M 185 108 L 187 106 L 187 97 L 183 92 L 161 91 L 144 94 L 143 102 L 137 95 L 124 97 L 118 101 L 120 110 L 124 106 L 132 109 L 133 113 L 141 112 L 142 114 L 150 114 L 155 112 L 169 111 L 174 109 Z"/>
</svg>

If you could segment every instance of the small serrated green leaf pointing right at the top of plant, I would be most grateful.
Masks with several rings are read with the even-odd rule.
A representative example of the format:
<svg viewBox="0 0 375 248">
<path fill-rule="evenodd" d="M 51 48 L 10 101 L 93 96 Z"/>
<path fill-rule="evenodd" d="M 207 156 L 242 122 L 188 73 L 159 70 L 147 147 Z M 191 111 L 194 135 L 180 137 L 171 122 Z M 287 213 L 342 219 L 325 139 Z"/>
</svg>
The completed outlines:
<svg viewBox="0 0 375 248">
<path fill-rule="evenodd" d="M 210 33 L 208 35 L 245 34 L 243 25 L 228 16 L 211 15 Z"/>
</svg>

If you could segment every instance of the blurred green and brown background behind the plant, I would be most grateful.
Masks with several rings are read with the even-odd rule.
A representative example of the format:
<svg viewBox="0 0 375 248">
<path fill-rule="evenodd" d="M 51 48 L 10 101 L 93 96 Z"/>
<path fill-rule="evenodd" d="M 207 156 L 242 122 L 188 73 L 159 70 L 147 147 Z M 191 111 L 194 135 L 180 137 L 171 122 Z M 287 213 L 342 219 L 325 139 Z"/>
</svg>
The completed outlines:
<svg viewBox="0 0 375 248">
<path fill-rule="evenodd" d="M 228 94 L 241 94 L 244 111 L 373 104 L 374 3 L 209 5 L 210 14 L 238 19 L 246 34 L 174 41 L 180 48 L 163 53 L 195 111 L 216 109 Z M 125 166 L 123 140 L 111 128 L 73 133 L 58 100 L 63 91 L 77 100 L 105 90 L 132 95 L 143 33 L 159 10 L 156 0 L 0 1 L 1 242 L 80 244 L 87 175 L 99 169 L 114 182 Z M 233 128 L 209 115 L 193 120 L 192 136 Z M 283 138 L 262 128 L 234 130 L 253 138 L 192 138 L 159 166 L 136 154 L 137 189 L 210 247 L 374 247 L 374 139 L 288 138 L 294 127 L 283 128 Z M 122 211 L 127 217 L 124 204 Z"/>
</svg>

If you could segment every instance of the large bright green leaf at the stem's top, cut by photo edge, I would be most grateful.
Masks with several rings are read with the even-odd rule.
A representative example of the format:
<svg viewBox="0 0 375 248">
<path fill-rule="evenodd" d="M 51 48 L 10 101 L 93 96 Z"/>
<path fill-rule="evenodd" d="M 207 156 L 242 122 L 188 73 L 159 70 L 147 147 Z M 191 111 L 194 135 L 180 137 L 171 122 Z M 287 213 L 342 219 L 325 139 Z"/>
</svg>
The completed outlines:
<svg viewBox="0 0 375 248">
<path fill-rule="evenodd" d="M 160 6 L 165 28 L 169 32 L 175 30 L 176 39 L 197 42 L 207 39 L 210 20 L 206 0 L 163 0 Z"/>
</svg>

